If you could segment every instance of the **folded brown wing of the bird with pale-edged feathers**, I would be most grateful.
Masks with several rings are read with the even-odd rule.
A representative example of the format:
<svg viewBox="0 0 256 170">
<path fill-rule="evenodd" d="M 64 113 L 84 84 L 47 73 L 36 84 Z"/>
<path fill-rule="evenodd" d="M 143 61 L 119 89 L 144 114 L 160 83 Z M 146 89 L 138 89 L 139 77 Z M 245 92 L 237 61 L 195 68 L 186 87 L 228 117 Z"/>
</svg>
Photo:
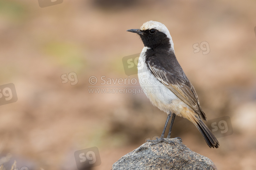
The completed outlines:
<svg viewBox="0 0 256 170">
<path fill-rule="evenodd" d="M 198 115 L 206 120 L 205 114 L 199 105 L 195 88 L 189 80 L 185 81 L 180 79 L 173 73 L 164 69 L 156 60 L 147 60 L 147 65 L 153 75 L 155 75 L 162 84 L 168 87 L 177 97 L 193 108 Z"/>
</svg>

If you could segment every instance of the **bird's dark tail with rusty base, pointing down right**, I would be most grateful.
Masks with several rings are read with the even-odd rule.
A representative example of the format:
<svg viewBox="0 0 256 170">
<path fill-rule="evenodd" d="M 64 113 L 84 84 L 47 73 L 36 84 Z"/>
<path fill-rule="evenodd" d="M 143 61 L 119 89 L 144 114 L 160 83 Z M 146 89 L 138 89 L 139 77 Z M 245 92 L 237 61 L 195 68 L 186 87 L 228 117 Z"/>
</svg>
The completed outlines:
<svg viewBox="0 0 256 170">
<path fill-rule="evenodd" d="M 206 141 L 207 145 L 210 148 L 218 148 L 219 147 L 219 142 L 216 139 L 216 137 L 212 134 L 210 129 L 204 124 L 204 122 L 199 118 L 196 119 L 196 122 L 194 124 L 197 126 L 197 129 L 200 131 L 202 134 L 204 140 Z"/>
</svg>

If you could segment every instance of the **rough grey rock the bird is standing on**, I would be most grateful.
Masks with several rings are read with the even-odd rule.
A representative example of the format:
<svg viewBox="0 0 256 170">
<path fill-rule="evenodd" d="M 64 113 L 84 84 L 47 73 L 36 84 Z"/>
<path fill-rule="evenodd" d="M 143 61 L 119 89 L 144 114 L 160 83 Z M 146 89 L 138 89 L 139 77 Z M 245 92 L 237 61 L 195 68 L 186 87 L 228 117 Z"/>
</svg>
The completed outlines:
<svg viewBox="0 0 256 170">
<path fill-rule="evenodd" d="M 213 162 L 191 151 L 181 139 L 166 139 L 170 144 L 160 142 L 150 145 L 146 142 L 126 154 L 113 164 L 112 170 L 119 169 L 173 169 L 173 170 L 216 170 Z M 175 144 L 171 143 L 174 142 Z"/>
</svg>

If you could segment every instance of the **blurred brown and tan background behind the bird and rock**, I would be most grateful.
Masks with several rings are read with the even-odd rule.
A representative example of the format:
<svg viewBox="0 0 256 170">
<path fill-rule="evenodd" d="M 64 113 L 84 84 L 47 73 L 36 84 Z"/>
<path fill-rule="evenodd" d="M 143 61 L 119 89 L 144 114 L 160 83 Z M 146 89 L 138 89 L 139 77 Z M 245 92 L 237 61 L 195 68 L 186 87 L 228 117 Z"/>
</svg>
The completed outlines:
<svg viewBox="0 0 256 170">
<path fill-rule="evenodd" d="M 19 169 L 76 170 L 74 152 L 97 147 L 101 165 L 91 169 L 111 169 L 160 136 L 167 114 L 145 94 L 114 87 L 140 89 L 137 74 L 125 74 L 122 58 L 140 53 L 143 43 L 126 30 L 154 20 L 169 29 L 207 119 L 228 116 L 233 130 L 211 149 L 191 122 L 176 117 L 171 137 L 181 137 L 219 170 L 256 169 L 255 6 L 238 0 L 63 0 L 42 8 L 36 0 L 1 0 L 0 85 L 13 83 L 18 100 L 0 106 L 0 164 L 6 170 L 14 160 Z M 94 85 L 91 76 L 98 79 Z M 133 78 L 136 84 L 102 80 Z"/>
</svg>

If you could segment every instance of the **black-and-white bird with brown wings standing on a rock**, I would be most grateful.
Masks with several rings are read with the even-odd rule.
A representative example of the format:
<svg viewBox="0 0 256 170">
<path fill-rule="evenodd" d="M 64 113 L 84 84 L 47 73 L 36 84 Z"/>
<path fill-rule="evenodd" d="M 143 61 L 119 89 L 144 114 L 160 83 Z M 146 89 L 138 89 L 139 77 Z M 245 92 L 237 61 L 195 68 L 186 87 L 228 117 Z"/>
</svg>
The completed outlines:
<svg viewBox="0 0 256 170">
<path fill-rule="evenodd" d="M 196 90 L 176 59 L 167 27 L 151 20 L 145 22 L 140 29 L 127 31 L 138 34 L 144 44 L 138 60 L 140 86 L 151 103 L 168 115 L 161 137 L 148 142 L 153 142 L 154 145 L 168 142 L 163 138 L 167 124 L 172 117 L 167 135 L 170 138 L 177 115 L 192 122 L 210 148 L 218 148 L 218 140 L 203 122 L 207 119 L 199 104 Z"/>
</svg>

